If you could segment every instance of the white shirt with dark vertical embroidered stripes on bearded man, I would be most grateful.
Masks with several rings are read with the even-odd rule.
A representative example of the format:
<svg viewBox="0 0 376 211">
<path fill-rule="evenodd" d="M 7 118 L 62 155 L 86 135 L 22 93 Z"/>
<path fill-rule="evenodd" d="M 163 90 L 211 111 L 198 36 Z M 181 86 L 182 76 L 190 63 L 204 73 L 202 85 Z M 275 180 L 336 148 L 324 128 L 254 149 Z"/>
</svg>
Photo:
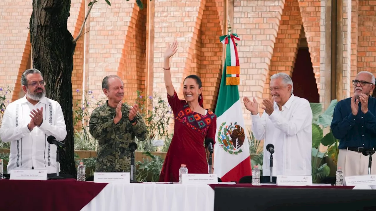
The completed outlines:
<svg viewBox="0 0 376 211">
<path fill-rule="evenodd" d="M 43 107 L 43 122 L 29 130 L 30 111 Z M 11 142 L 11 154 L 7 170 L 12 169 L 47 169 L 47 173 L 56 173 L 56 146 L 47 142 L 48 136 L 64 140 L 67 136 L 65 121 L 58 102 L 41 98 L 35 105 L 27 101 L 26 96 L 6 107 L 0 138 Z M 60 170 L 59 170 L 60 171 Z"/>
</svg>

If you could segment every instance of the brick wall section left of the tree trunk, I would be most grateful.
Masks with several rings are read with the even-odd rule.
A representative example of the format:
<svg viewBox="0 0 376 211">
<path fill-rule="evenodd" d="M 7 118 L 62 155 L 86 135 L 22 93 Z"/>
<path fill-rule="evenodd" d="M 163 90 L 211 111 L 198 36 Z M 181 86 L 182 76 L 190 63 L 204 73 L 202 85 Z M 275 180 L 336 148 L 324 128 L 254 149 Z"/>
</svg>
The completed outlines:
<svg viewBox="0 0 376 211">
<path fill-rule="evenodd" d="M 0 2 L 0 87 L 12 90 L 6 98 L 14 101 L 22 95 L 22 72 L 31 53 L 29 22 L 32 0 Z"/>
</svg>

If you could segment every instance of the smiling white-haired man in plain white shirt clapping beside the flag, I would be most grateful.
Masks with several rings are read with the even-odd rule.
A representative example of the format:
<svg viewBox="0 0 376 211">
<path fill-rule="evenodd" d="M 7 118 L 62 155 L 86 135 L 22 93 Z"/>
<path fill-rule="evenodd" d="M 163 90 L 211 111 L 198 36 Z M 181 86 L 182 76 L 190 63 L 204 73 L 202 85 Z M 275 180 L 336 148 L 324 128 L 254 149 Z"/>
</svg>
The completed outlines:
<svg viewBox="0 0 376 211">
<path fill-rule="evenodd" d="M 244 98 L 246 109 L 251 112 L 252 132 L 256 139 L 264 139 L 264 146 L 274 145 L 273 182 L 277 175 L 311 175 L 312 110 L 309 102 L 293 94 L 293 81 L 285 73 L 271 76 L 271 101 L 263 99 L 258 114 L 255 98 Z M 264 148 L 262 183 L 270 180 L 270 152 Z"/>
</svg>

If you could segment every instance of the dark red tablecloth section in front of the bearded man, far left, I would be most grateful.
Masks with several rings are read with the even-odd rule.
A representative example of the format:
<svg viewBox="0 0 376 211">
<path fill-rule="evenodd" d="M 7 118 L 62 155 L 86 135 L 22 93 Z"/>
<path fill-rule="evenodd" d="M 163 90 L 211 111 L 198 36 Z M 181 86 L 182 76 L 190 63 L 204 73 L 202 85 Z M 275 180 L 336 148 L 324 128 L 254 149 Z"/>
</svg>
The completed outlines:
<svg viewBox="0 0 376 211">
<path fill-rule="evenodd" d="M 48 181 L 0 180 L 1 211 L 79 211 L 107 183 L 75 179 Z"/>
</svg>

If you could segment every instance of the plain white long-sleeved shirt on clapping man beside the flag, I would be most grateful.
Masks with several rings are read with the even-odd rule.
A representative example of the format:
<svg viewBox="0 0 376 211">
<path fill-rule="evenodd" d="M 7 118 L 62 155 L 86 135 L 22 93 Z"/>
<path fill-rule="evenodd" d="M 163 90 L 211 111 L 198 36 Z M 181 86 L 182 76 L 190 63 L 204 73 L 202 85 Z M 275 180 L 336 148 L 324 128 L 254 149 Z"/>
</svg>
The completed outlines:
<svg viewBox="0 0 376 211">
<path fill-rule="evenodd" d="M 311 175 L 312 110 L 309 102 L 291 95 L 280 111 L 274 102 L 274 111 L 260 117 L 252 115 L 252 132 L 256 139 L 264 139 L 262 176 L 270 176 L 270 152 L 274 145 L 273 176 Z"/>
</svg>

